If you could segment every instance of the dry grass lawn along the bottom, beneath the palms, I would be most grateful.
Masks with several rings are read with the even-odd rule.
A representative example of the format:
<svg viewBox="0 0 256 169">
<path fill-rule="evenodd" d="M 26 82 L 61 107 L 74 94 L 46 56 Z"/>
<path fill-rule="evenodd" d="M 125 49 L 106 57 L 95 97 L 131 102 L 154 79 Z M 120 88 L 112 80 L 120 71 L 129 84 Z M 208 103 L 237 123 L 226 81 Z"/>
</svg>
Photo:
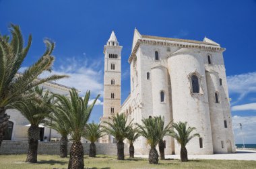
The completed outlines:
<svg viewBox="0 0 256 169">
<path fill-rule="evenodd" d="M 69 158 L 59 158 L 59 156 L 38 155 L 38 164 L 28 164 L 24 162 L 26 155 L 0 155 L 0 168 L 30 169 L 30 168 L 67 168 Z M 180 160 L 160 160 L 159 164 L 148 164 L 148 159 L 126 158 L 118 161 L 116 156 L 98 155 L 96 158 L 84 156 L 85 168 L 92 169 L 132 169 L 132 168 L 256 168 L 256 161 L 239 160 L 190 160 L 180 162 Z"/>
</svg>

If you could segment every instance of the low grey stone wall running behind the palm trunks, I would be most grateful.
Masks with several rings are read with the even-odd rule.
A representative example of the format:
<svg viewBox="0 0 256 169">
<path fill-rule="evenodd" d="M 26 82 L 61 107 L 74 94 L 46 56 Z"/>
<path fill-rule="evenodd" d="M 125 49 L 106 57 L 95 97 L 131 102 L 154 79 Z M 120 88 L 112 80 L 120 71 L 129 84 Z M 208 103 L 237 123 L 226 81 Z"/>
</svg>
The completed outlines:
<svg viewBox="0 0 256 169">
<path fill-rule="evenodd" d="M 72 143 L 68 144 L 70 150 Z M 84 155 L 89 154 L 90 143 L 83 143 Z M 96 144 L 97 154 L 117 155 L 116 144 Z M 0 154 L 27 154 L 28 142 L 3 141 Z M 59 155 L 59 142 L 39 142 L 38 154 Z M 125 155 L 129 155 L 129 145 L 125 144 Z"/>
</svg>

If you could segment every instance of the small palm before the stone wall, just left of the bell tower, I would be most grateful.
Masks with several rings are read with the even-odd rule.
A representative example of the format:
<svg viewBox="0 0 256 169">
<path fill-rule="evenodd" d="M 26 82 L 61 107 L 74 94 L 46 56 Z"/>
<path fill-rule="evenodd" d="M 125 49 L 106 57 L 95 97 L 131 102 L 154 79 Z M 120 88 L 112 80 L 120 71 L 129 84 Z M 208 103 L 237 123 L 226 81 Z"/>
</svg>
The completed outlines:
<svg viewBox="0 0 256 169">
<path fill-rule="evenodd" d="M 86 124 L 86 130 L 84 132 L 84 137 L 88 139 L 90 143 L 89 157 L 96 157 L 96 145 L 95 142 L 104 135 L 104 130 L 102 126 L 97 123 Z"/>
</svg>

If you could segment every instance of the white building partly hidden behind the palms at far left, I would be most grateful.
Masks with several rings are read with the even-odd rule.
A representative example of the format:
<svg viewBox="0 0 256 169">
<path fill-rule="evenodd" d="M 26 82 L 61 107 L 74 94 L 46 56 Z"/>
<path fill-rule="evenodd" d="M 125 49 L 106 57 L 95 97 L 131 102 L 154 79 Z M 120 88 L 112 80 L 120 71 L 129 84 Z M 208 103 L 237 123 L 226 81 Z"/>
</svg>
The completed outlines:
<svg viewBox="0 0 256 169">
<path fill-rule="evenodd" d="M 40 84 L 39 87 L 43 87 L 45 91 L 48 90 L 52 93 L 61 95 L 69 95 L 69 90 L 71 89 L 55 82 L 44 82 L 43 84 Z M 30 122 L 16 109 L 8 109 L 7 115 L 10 116 L 10 119 L 7 129 L 5 129 L 4 140 L 27 141 Z M 54 129 L 49 129 L 43 125 L 40 125 L 39 127 L 39 139 L 41 142 L 44 141 L 44 138 L 46 138 L 47 141 L 50 141 L 51 139 L 52 141 L 56 141 L 61 138 L 61 135 Z"/>
</svg>

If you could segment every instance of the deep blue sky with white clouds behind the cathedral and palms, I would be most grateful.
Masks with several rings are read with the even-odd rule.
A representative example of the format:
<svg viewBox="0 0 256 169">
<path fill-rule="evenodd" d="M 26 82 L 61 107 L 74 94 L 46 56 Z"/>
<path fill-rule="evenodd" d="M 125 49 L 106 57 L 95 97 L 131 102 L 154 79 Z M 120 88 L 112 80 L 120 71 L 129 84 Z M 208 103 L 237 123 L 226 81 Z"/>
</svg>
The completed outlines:
<svg viewBox="0 0 256 169">
<path fill-rule="evenodd" d="M 134 28 L 141 34 L 203 40 L 206 36 L 226 48 L 224 61 L 236 143 L 238 123 L 245 142 L 256 136 L 256 1 L 63 1 L 0 0 L 0 32 L 9 23 L 20 25 L 24 38 L 33 42 L 24 67 L 44 52 L 44 38 L 56 42 L 56 73 L 71 78 L 59 81 L 92 95 L 102 94 L 103 47 L 112 30 L 122 51 L 122 102 L 129 95 L 129 64 Z M 102 97 L 100 98 L 102 101 Z M 102 116 L 98 102 L 91 121 Z"/>
</svg>

